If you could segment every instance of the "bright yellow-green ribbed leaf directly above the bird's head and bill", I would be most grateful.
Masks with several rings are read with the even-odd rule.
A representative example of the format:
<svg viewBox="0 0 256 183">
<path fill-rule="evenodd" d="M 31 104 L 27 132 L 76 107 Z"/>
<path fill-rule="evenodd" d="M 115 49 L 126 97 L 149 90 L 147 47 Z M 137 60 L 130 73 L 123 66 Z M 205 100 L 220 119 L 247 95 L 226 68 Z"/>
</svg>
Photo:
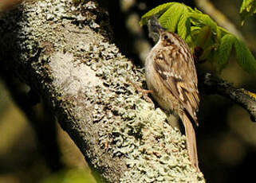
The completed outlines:
<svg viewBox="0 0 256 183">
<path fill-rule="evenodd" d="M 184 10 L 185 6 L 183 4 L 175 3 L 160 17 L 160 24 L 168 31 L 174 33 Z"/>
</svg>

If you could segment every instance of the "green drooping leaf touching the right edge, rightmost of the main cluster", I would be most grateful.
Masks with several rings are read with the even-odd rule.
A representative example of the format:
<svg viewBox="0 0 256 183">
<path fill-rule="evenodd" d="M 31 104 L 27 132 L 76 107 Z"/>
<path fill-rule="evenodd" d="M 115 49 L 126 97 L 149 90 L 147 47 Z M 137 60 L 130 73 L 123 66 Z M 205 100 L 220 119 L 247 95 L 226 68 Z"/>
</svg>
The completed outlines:
<svg viewBox="0 0 256 183">
<path fill-rule="evenodd" d="M 234 41 L 234 49 L 238 64 L 249 73 L 256 71 L 256 60 L 246 45 L 238 38 Z"/>
</svg>

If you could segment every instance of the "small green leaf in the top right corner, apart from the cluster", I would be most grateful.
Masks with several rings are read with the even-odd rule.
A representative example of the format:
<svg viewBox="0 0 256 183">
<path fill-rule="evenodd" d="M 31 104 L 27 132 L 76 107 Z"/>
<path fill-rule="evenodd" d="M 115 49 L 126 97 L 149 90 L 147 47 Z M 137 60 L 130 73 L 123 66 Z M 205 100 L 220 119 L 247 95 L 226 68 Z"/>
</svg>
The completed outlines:
<svg viewBox="0 0 256 183">
<path fill-rule="evenodd" d="M 256 0 L 243 0 L 240 8 L 240 17 L 242 25 L 244 25 L 246 18 L 249 18 L 256 13 Z"/>
</svg>

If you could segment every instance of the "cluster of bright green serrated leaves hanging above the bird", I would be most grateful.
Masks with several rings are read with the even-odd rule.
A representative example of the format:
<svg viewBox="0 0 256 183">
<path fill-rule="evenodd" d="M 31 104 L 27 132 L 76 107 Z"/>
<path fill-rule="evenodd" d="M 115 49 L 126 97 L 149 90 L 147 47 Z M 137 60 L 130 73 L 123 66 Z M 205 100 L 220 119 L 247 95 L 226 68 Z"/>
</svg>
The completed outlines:
<svg viewBox="0 0 256 183">
<path fill-rule="evenodd" d="M 210 60 L 217 71 L 221 72 L 226 66 L 232 49 L 236 53 L 238 64 L 246 72 L 256 71 L 256 60 L 246 45 L 238 37 L 218 26 L 207 14 L 193 10 L 183 3 L 168 2 L 144 14 L 140 25 L 147 25 L 153 15 L 159 18 L 165 29 L 178 33 L 187 41 L 193 52 L 195 48 L 202 49 L 199 60 Z"/>
</svg>

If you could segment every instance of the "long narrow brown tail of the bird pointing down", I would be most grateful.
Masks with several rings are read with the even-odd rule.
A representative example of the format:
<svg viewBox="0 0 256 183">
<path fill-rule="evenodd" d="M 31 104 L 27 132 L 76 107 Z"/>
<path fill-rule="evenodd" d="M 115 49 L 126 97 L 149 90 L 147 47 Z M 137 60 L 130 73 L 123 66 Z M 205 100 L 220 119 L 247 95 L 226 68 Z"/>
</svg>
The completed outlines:
<svg viewBox="0 0 256 183">
<path fill-rule="evenodd" d="M 191 123 L 191 119 L 188 118 L 185 112 L 183 113 L 182 121 L 185 127 L 185 132 L 187 137 L 187 151 L 189 154 L 189 158 L 191 159 L 192 165 L 194 165 L 195 168 L 199 170 L 199 160 L 197 157 L 195 130 Z"/>
</svg>

